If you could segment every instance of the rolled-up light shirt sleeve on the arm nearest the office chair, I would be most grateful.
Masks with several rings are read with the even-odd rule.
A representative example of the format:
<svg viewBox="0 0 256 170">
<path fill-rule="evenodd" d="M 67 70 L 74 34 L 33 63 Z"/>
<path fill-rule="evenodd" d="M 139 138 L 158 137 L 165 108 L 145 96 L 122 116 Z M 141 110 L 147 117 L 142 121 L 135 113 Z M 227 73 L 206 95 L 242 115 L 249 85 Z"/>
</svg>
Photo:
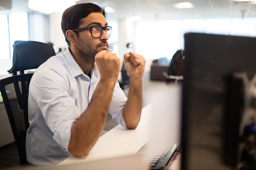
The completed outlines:
<svg viewBox="0 0 256 170">
<path fill-rule="evenodd" d="M 81 115 L 75 99 L 69 95 L 76 91 L 70 91 L 70 77 L 57 69 L 40 68 L 35 74 L 41 76 L 35 76 L 31 80 L 30 90 L 36 94 L 33 98 L 38 103 L 47 126 L 54 134 L 54 140 L 67 149 L 72 125 Z"/>
</svg>

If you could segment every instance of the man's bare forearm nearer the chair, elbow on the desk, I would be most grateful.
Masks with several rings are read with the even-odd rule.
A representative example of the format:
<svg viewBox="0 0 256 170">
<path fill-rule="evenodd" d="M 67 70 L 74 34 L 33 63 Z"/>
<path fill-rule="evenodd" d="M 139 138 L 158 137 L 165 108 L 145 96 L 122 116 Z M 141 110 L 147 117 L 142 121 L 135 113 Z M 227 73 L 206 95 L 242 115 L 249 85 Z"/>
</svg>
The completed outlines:
<svg viewBox="0 0 256 170">
<path fill-rule="evenodd" d="M 98 141 L 108 116 L 114 87 L 114 82 L 100 81 L 88 108 L 74 122 L 68 149 L 76 157 L 86 157 Z"/>
</svg>

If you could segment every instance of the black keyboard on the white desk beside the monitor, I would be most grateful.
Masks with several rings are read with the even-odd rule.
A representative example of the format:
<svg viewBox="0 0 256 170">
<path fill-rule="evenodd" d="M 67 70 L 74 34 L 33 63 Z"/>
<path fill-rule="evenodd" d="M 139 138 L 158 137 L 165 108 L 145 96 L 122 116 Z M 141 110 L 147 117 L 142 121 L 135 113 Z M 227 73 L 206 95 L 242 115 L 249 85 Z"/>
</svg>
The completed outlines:
<svg viewBox="0 0 256 170">
<path fill-rule="evenodd" d="M 171 161 L 172 157 L 175 155 L 176 151 L 179 149 L 179 147 L 179 144 L 175 144 L 171 148 L 160 152 L 150 162 L 150 170 L 164 170 L 168 163 Z"/>
</svg>

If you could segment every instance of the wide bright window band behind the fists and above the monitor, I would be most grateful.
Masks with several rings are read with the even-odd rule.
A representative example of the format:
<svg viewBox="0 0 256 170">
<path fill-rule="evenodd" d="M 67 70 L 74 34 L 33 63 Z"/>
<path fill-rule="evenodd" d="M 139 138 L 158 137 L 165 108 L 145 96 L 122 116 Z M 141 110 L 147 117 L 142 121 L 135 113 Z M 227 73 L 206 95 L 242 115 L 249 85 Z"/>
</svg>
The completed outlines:
<svg viewBox="0 0 256 170">
<path fill-rule="evenodd" d="M 184 33 L 188 32 L 256 37 L 256 18 L 139 21 L 136 52 L 146 59 L 171 59 L 178 49 L 184 49 Z"/>
</svg>

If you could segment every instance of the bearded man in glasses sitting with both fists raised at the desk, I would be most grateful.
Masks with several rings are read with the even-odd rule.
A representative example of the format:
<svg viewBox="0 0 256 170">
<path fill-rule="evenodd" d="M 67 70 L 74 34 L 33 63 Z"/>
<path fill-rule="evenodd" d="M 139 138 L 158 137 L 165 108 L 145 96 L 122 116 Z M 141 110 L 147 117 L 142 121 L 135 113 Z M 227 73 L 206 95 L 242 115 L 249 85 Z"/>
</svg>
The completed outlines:
<svg viewBox="0 0 256 170">
<path fill-rule="evenodd" d="M 130 75 L 128 98 L 117 78 L 120 59 L 107 51 L 111 26 L 95 4 L 66 9 L 61 27 L 68 48 L 42 64 L 29 86 L 27 161 L 59 163 L 86 157 L 101 136 L 108 113 L 135 129 L 142 109 L 143 56 L 124 54 Z"/>
</svg>

